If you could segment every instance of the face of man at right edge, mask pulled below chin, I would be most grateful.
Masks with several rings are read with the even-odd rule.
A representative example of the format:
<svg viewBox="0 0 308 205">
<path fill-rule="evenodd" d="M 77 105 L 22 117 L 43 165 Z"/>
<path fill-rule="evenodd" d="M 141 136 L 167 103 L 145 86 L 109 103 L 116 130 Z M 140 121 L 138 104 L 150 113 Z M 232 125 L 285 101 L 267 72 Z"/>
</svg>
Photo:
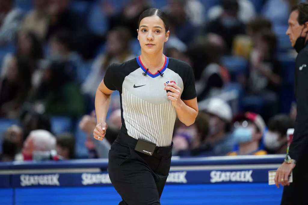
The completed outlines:
<svg viewBox="0 0 308 205">
<path fill-rule="evenodd" d="M 288 21 L 289 27 L 288 27 L 288 30 L 286 31 L 286 34 L 290 38 L 292 47 L 295 45 L 295 42 L 298 39 L 298 37 L 301 35 L 301 33 L 302 35 L 303 34 L 306 35 L 307 33 L 307 28 L 304 29 L 304 25 L 299 25 L 297 18 L 298 18 L 298 11 L 295 10 L 290 14 L 289 21 Z"/>
</svg>

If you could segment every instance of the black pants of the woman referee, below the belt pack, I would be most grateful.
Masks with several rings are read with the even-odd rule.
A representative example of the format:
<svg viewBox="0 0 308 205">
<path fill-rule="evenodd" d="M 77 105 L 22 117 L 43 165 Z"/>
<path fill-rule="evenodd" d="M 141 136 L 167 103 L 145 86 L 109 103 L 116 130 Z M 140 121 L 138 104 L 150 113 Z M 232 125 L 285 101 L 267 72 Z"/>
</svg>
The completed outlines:
<svg viewBox="0 0 308 205">
<path fill-rule="evenodd" d="M 156 147 L 149 156 L 135 151 L 136 143 L 136 139 L 120 132 L 109 151 L 108 173 L 122 197 L 119 205 L 160 205 L 173 144 Z"/>
</svg>

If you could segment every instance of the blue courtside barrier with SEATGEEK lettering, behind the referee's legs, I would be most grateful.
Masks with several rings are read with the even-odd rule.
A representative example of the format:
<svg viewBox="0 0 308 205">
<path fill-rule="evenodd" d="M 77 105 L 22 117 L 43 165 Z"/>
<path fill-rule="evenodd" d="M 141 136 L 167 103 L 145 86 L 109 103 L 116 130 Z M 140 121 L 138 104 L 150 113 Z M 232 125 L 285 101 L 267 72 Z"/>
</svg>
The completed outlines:
<svg viewBox="0 0 308 205">
<path fill-rule="evenodd" d="M 161 204 L 279 204 L 283 155 L 172 158 Z M 0 163 L 0 205 L 118 204 L 105 159 Z"/>
</svg>

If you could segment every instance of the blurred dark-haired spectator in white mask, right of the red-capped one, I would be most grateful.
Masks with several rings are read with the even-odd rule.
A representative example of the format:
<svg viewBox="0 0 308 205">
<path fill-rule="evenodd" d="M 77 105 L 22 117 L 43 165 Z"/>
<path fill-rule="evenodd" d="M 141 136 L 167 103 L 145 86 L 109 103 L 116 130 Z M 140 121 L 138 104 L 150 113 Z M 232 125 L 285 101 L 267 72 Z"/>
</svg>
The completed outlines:
<svg viewBox="0 0 308 205">
<path fill-rule="evenodd" d="M 264 146 L 269 154 L 286 154 L 287 130 L 294 128 L 294 120 L 286 114 L 270 118 L 268 130 L 264 134 Z"/>
</svg>

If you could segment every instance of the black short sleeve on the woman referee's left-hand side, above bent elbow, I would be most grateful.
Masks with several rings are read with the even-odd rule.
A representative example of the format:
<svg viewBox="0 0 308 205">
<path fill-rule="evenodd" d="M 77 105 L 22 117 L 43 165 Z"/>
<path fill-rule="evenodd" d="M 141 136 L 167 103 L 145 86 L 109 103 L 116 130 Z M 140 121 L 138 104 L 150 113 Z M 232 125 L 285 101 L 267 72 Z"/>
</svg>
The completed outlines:
<svg viewBox="0 0 308 205">
<path fill-rule="evenodd" d="M 113 63 L 111 65 L 108 66 L 105 76 L 104 76 L 104 84 L 106 85 L 106 87 L 110 90 L 119 90 L 119 73 L 118 73 L 118 66 Z"/>
</svg>

